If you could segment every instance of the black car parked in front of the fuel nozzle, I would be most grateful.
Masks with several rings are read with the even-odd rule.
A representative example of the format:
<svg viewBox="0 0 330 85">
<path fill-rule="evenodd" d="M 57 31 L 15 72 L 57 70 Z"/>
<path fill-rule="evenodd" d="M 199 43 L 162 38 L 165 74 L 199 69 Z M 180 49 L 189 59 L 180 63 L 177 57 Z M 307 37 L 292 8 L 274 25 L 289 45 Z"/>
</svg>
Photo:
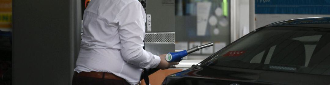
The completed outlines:
<svg viewBox="0 0 330 85">
<path fill-rule="evenodd" d="M 163 85 L 330 85 L 330 17 L 258 28 Z"/>
</svg>

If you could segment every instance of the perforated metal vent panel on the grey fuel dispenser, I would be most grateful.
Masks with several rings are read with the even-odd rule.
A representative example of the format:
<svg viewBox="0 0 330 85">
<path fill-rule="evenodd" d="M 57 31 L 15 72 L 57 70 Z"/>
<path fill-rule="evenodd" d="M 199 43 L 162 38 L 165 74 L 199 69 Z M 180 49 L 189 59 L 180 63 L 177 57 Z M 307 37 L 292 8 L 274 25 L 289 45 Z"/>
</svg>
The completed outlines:
<svg viewBox="0 0 330 85">
<path fill-rule="evenodd" d="M 146 44 L 175 43 L 175 32 L 149 32 L 145 34 Z"/>
</svg>

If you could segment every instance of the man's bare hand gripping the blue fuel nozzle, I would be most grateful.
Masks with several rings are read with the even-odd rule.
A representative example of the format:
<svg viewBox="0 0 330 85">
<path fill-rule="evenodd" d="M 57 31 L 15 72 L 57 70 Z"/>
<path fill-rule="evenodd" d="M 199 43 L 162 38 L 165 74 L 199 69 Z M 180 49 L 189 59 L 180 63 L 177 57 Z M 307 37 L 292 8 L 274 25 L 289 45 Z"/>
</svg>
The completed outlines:
<svg viewBox="0 0 330 85">
<path fill-rule="evenodd" d="M 168 68 L 176 68 L 174 65 L 179 64 L 179 62 L 167 62 L 165 59 L 166 54 L 160 55 L 160 62 L 156 68 L 159 69 L 168 69 Z"/>
</svg>

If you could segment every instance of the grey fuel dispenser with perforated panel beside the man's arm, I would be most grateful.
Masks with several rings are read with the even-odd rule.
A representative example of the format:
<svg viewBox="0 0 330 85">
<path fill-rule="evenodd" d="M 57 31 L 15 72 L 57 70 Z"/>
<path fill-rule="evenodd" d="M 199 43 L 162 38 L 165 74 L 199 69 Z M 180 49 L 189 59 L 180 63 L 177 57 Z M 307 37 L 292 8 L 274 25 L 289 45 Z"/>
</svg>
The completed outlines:
<svg viewBox="0 0 330 85">
<path fill-rule="evenodd" d="M 154 55 L 175 52 L 175 0 L 140 0 L 147 14 L 145 50 Z"/>
</svg>

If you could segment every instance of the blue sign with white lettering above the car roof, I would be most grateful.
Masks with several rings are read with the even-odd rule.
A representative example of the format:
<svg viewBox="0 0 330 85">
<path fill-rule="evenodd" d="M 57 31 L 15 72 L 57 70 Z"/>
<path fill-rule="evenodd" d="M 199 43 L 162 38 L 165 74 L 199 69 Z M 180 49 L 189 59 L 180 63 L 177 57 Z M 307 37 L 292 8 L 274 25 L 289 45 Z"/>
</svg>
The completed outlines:
<svg viewBox="0 0 330 85">
<path fill-rule="evenodd" d="M 255 14 L 330 14 L 330 0 L 255 0 Z"/>
</svg>

